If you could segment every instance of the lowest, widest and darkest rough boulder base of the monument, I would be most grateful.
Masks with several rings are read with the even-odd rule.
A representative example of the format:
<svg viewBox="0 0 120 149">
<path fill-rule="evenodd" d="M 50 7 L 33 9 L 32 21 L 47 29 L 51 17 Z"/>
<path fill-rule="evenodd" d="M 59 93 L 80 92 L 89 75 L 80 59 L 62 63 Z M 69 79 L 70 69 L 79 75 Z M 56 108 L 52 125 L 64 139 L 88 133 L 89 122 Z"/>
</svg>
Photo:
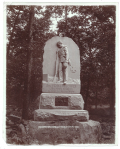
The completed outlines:
<svg viewBox="0 0 120 149">
<path fill-rule="evenodd" d="M 39 144 L 98 144 L 101 126 L 97 121 L 29 121 L 28 135 Z"/>
</svg>

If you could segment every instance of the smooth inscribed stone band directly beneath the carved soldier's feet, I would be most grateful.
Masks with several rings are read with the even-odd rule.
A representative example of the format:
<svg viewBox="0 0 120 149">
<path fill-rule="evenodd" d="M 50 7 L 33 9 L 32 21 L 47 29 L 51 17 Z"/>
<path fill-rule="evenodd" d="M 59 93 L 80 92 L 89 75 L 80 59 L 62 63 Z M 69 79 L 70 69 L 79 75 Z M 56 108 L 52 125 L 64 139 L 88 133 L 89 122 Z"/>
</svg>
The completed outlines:
<svg viewBox="0 0 120 149">
<path fill-rule="evenodd" d="M 42 83 L 42 92 L 43 93 L 66 93 L 66 94 L 79 94 L 80 93 L 80 84 L 66 84 L 63 83 Z"/>
</svg>

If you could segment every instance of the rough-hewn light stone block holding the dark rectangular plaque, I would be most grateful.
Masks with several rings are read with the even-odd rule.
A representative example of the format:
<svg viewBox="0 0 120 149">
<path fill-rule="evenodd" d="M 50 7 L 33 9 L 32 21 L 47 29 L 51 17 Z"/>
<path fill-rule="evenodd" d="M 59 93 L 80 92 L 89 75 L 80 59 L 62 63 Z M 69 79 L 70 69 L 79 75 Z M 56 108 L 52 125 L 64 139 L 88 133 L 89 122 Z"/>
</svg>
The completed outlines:
<svg viewBox="0 0 120 149">
<path fill-rule="evenodd" d="M 53 94 L 42 93 L 40 109 L 84 109 L 84 100 L 81 94 Z"/>
</svg>

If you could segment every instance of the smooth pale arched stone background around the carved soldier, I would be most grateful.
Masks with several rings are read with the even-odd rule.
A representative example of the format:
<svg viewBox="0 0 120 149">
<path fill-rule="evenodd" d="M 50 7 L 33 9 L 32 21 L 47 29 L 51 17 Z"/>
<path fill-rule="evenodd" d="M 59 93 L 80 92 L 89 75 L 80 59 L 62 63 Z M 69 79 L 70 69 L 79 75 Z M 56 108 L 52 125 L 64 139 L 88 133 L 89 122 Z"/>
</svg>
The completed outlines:
<svg viewBox="0 0 120 149">
<path fill-rule="evenodd" d="M 54 77 L 56 65 L 57 42 L 61 41 L 67 46 L 69 58 L 72 67 L 68 68 L 68 77 L 72 79 L 80 79 L 80 51 L 77 44 L 69 37 L 55 36 L 49 39 L 44 47 L 43 55 L 43 74 Z M 76 71 L 71 71 L 71 68 Z"/>
</svg>

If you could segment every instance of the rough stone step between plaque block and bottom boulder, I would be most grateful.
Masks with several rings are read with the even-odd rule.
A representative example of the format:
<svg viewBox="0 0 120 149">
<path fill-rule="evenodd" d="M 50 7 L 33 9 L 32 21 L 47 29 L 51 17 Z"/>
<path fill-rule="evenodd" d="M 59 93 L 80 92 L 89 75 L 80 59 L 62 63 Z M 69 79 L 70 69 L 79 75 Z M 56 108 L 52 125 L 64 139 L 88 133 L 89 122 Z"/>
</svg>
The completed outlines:
<svg viewBox="0 0 120 149">
<path fill-rule="evenodd" d="M 38 109 L 34 111 L 35 121 L 59 121 L 59 120 L 88 121 L 89 114 L 86 110 L 68 109 Z"/>
</svg>

